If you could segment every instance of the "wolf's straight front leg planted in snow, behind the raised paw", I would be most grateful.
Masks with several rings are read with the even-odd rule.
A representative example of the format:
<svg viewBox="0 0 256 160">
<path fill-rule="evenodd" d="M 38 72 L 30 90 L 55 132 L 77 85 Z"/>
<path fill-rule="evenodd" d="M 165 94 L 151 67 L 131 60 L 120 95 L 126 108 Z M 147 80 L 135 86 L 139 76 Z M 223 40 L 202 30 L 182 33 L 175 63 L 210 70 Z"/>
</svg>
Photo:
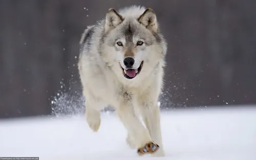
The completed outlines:
<svg viewBox="0 0 256 160">
<path fill-rule="evenodd" d="M 162 144 L 162 133 L 160 126 L 160 109 L 157 103 L 143 102 L 141 106 L 141 115 L 143 121 L 150 132 L 152 140 L 160 147 L 153 156 L 164 156 L 163 144 Z M 145 105 L 146 104 L 146 105 Z"/>
</svg>

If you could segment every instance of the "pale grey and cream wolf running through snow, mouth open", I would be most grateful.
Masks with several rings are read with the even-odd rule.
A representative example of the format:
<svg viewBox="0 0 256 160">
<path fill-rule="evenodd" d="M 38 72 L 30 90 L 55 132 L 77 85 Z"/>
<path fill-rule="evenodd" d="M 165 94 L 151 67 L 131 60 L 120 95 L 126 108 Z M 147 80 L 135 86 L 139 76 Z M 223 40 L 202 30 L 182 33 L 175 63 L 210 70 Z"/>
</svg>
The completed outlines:
<svg viewBox="0 0 256 160">
<path fill-rule="evenodd" d="M 164 156 L 160 109 L 167 43 L 151 8 L 110 8 L 81 35 L 78 72 L 86 120 L 98 131 L 100 111 L 112 106 L 139 155 Z"/>
</svg>

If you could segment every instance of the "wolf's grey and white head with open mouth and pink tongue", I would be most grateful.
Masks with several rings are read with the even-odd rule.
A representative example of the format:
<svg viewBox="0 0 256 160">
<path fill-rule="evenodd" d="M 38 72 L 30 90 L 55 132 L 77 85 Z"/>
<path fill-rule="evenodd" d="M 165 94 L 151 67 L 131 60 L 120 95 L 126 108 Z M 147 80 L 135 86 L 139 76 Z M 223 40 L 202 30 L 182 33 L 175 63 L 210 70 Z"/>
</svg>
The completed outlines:
<svg viewBox="0 0 256 160">
<path fill-rule="evenodd" d="M 101 53 L 118 77 L 136 79 L 164 65 L 166 42 L 153 9 L 133 6 L 106 13 Z M 161 66 L 160 66 L 161 67 Z"/>
</svg>

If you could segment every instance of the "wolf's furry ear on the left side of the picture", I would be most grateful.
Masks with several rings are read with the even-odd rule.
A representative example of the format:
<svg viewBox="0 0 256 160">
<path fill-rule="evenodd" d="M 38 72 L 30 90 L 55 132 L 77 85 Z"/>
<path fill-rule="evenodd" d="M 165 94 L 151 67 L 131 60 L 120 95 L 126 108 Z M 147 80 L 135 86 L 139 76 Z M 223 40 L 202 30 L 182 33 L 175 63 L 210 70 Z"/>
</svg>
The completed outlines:
<svg viewBox="0 0 256 160">
<path fill-rule="evenodd" d="M 110 8 L 106 13 L 105 32 L 108 32 L 121 24 L 124 18 L 113 8 Z"/>
</svg>

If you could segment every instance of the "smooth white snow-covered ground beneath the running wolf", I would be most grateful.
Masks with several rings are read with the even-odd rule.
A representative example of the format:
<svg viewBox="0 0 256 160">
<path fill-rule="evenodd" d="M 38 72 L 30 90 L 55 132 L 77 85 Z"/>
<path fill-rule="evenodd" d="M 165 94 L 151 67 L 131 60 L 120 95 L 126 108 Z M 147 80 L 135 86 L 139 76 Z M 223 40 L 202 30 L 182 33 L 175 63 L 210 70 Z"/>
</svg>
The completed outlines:
<svg viewBox="0 0 256 160">
<path fill-rule="evenodd" d="M 256 107 L 162 111 L 165 157 L 139 157 L 125 143 L 115 113 L 102 113 L 97 133 L 83 117 L 0 121 L 0 156 L 47 160 L 196 159 L 255 160 Z"/>
</svg>

